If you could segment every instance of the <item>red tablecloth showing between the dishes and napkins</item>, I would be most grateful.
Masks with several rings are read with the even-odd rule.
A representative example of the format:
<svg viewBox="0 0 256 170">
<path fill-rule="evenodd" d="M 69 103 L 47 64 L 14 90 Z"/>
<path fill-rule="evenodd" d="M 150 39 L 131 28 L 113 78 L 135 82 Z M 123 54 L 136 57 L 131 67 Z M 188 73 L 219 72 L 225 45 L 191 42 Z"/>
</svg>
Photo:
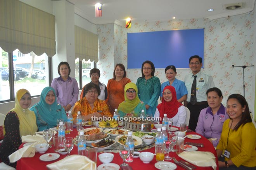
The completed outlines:
<svg viewBox="0 0 256 170">
<path fill-rule="evenodd" d="M 76 129 L 74 129 L 74 131 L 72 131 L 70 134 L 66 135 L 69 137 L 75 137 L 77 135 L 77 131 Z M 190 132 L 187 134 L 195 134 L 194 132 Z M 204 138 L 202 136 L 201 139 L 189 139 L 189 138 L 185 138 L 185 142 L 196 142 L 196 143 L 203 143 L 204 147 L 203 148 L 198 148 L 198 151 L 210 151 L 211 153 L 213 153 L 216 157 L 216 151 L 213 147 L 213 145 L 208 141 L 208 139 Z M 23 147 L 23 144 L 21 145 L 21 147 Z M 144 151 L 148 151 L 148 152 L 155 152 L 155 148 L 150 148 Z M 46 153 L 54 153 L 54 148 L 49 148 L 47 150 Z M 73 150 L 71 151 L 71 155 L 72 154 L 77 154 L 77 146 L 74 146 Z M 99 155 L 100 153 L 97 153 L 97 155 Z M 119 156 L 119 153 L 113 153 L 114 154 L 114 160 L 111 163 L 116 163 L 118 165 L 121 165 L 121 163 L 123 163 L 123 160 L 121 159 L 121 157 Z M 43 155 L 40 153 L 36 153 L 34 157 L 32 158 L 21 158 L 18 162 L 17 162 L 17 170 L 47 170 L 46 165 L 50 164 L 50 163 L 54 163 L 58 160 L 63 159 L 66 155 L 61 155 L 57 160 L 54 161 L 50 161 L 50 162 L 43 162 L 39 159 L 39 157 Z M 176 155 L 176 153 L 174 152 L 170 152 L 170 156 L 173 157 L 175 156 L 175 158 L 177 160 L 181 160 L 180 157 L 178 157 Z M 133 168 L 133 170 L 139 170 L 139 169 L 146 169 L 146 170 L 156 170 L 157 168 L 154 166 L 156 163 L 156 158 L 153 158 L 153 160 L 148 163 L 145 164 L 143 163 L 140 158 L 134 158 L 132 163 L 129 163 L 130 167 Z M 170 162 L 174 163 L 173 160 L 171 160 Z M 218 165 L 218 159 L 216 158 L 216 163 Z M 102 164 L 99 160 L 99 158 L 97 158 L 97 166 L 99 166 L 100 164 Z M 197 167 L 197 170 L 212 170 L 213 168 L 211 167 Z M 177 170 L 184 170 L 184 168 L 180 167 L 177 165 Z M 218 167 L 217 167 L 218 170 Z"/>
</svg>

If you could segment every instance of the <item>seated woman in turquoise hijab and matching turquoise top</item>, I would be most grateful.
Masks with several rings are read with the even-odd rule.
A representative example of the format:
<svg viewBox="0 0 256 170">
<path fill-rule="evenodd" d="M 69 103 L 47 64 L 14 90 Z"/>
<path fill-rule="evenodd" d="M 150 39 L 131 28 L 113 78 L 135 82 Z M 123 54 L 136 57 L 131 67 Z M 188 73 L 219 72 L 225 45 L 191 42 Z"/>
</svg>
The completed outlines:
<svg viewBox="0 0 256 170">
<path fill-rule="evenodd" d="M 45 87 L 40 96 L 40 102 L 31 107 L 36 115 L 36 124 L 39 131 L 56 126 L 57 119 L 67 121 L 64 108 L 57 103 L 55 90 L 52 87 Z"/>
</svg>

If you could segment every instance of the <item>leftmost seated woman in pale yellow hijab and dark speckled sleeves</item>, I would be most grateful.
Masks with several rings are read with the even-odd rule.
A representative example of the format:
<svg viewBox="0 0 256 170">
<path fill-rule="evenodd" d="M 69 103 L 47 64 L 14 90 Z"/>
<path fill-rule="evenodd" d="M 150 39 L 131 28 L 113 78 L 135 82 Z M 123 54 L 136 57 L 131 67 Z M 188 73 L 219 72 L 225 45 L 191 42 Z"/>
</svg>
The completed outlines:
<svg viewBox="0 0 256 170">
<path fill-rule="evenodd" d="M 28 109 L 30 104 L 31 95 L 22 88 L 16 93 L 15 107 L 5 116 L 5 136 L 0 146 L 0 158 L 12 167 L 16 167 L 16 162 L 10 163 L 8 156 L 19 149 L 21 136 L 33 135 L 37 131 L 35 114 Z"/>
</svg>

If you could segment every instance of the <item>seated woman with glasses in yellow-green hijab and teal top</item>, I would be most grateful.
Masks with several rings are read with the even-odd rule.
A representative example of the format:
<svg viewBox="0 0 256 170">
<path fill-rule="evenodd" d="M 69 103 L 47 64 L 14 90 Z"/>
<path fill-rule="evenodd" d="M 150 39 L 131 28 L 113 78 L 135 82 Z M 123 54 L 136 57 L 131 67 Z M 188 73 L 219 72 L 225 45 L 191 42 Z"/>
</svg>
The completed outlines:
<svg viewBox="0 0 256 170">
<path fill-rule="evenodd" d="M 144 102 L 138 98 L 137 85 L 135 83 L 127 83 L 125 85 L 125 101 L 118 106 L 120 117 L 124 117 L 128 113 L 138 116 L 141 110 L 144 110 L 146 113 Z"/>
</svg>

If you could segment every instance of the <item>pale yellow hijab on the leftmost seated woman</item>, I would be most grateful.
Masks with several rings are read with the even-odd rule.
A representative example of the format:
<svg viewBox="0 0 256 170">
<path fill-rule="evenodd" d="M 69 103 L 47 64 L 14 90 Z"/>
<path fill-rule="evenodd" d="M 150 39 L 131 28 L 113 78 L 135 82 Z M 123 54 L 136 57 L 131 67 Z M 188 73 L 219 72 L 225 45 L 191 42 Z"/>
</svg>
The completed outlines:
<svg viewBox="0 0 256 170">
<path fill-rule="evenodd" d="M 28 90 L 24 88 L 16 92 L 15 107 L 12 110 L 10 110 L 16 112 L 19 118 L 19 133 L 21 136 L 28 134 L 33 135 L 37 131 L 35 113 L 33 111 L 30 111 L 28 108 L 23 109 L 19 104 L 22 96 L 26 93 L 30 95 Z"/>
</svg>

